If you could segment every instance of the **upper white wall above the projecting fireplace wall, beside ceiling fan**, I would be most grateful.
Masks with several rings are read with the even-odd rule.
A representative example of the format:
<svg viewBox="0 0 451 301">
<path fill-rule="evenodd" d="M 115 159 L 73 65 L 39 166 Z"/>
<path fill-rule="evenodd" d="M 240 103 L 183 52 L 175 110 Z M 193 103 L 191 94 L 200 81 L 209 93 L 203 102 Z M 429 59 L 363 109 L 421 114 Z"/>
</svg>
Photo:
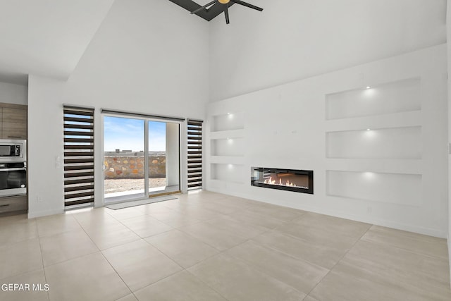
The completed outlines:
<svg viewBox="0 0 451 301">
<path fill-rule="evenodd" d="M 445 0 L 259 0 L 211 21 L 210 99 L 443 44 Z"/>
</svg>

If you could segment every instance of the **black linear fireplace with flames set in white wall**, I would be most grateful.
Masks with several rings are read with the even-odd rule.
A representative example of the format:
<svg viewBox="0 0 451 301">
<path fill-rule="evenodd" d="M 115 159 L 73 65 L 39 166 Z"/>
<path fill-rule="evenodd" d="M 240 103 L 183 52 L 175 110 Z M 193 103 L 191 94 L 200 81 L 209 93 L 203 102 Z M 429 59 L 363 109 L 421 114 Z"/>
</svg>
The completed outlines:
<svg viewBox="0 0 451 301">
<path fill-rule="evenodd" d="M 313 171 L 251 167 L 251 185 L 313 195 Z"/>
</svg>

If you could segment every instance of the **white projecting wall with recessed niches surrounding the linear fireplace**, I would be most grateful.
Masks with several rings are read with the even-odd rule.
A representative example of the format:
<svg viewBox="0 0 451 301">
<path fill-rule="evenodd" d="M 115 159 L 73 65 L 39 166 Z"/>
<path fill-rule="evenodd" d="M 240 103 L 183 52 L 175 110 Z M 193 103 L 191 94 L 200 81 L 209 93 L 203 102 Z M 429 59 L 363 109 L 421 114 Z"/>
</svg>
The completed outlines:
<svg viewBox="0 0 451 301">
<path fill-rule="evenodd" d="M 206 188 L 445 238 L 446 51 L 442 44 L 210 103 Z M 331 95 L 376 109 L 337 113 Z M 386 97 L 397 104 L 381 112 L 372 102 Z M 235 138 L 229 154 L 214 149 Z M 251 166 L 313 170 L 314 195 L 252 187 Z"/>
</svg>

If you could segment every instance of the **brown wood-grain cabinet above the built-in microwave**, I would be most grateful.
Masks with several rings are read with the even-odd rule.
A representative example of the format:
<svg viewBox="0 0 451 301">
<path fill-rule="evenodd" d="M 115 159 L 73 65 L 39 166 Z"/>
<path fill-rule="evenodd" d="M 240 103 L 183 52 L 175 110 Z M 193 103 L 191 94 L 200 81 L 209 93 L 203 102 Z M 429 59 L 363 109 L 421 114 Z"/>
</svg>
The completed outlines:
<svg viewBox="0 0 451 301">
<path fill-rule="evenodd" d="M 0 103 L 2 139 L 27 139 L 27 106 Z"/>
</svg>

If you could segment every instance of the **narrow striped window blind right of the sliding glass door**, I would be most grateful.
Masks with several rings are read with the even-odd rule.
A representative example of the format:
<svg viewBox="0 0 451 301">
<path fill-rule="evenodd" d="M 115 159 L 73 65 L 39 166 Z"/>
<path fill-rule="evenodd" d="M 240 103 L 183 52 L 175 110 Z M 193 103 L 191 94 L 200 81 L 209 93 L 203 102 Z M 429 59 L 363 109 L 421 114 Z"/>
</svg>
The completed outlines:
<svg viewBox="0 0 451 301">
<path fill-rule="evenodd" d="M 187 120 L 188 190 L 202 189 L 202 121 Z"/>
</svg>

